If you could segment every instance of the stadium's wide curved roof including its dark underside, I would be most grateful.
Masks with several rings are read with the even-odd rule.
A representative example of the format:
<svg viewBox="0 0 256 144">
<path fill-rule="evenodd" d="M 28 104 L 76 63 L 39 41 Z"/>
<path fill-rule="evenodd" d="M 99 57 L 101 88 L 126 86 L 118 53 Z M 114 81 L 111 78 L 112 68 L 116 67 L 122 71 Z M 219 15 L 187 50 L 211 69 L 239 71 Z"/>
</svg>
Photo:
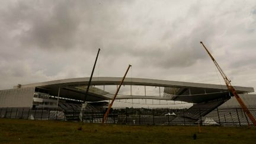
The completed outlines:
<svg viewBox="0 0 256 144">
<path fill-rule="evenodd" d="M 119 77 L 95 77 L 92 78 L 91 85 L 119 85 L 122 78 Z M 85 90 L 78 87 L 88 85 L 89 78 L 60 79 L 56 81 L 39 82 L 34 84 L 21 85 L 21 88 L 36 87 L 45 89 L 50 95 L 57 96 L 60 88 L 60 97 L 84 100 Z M 153 87 L 164 87 L 164 92 L 171 97 L 147 97 L 158 100 L 178 100 L 190 103 L 201 103 L 203 101 L 215 100 L 229 95 L 226 85 L 201 84 L 194 82 L 165 81 L 158 79 L 126 78 L 123 85 L 143 85 Z M 14 86 L 18 88 L 18 86 Z M 251 87 L 235 87 L 239 94 L 254 92 Z M 110 100 L 113 94 L 103 91 L 103 89 L 90 88 L 87 101 Z M 117 99 L 145 98 L 141 95 L 117 95 Z"/>
</svg>

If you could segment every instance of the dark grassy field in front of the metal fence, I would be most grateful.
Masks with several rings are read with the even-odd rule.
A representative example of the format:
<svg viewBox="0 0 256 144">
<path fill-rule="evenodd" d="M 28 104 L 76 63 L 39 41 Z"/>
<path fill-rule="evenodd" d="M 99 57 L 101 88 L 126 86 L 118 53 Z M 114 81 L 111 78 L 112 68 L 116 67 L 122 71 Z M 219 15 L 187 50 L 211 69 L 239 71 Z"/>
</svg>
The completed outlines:
<svg viewBox="0 0 256 144">
<path fill-rule="evenodd" d="M 78 130 L 82 127 L 82 130 Z M 0 119 L 0 143 L 255 143 L 247 127 L 127 126 Z M 193 136 L 196 133 L 196 139 Z"/>
</svg>

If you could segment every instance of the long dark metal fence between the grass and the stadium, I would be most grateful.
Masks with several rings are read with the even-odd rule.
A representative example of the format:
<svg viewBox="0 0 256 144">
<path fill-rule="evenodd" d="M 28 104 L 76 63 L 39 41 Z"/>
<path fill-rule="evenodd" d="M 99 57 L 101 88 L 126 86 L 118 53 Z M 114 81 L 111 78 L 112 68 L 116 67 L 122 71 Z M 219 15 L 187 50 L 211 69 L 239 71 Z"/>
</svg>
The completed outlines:
<svg viewBox="0 0 256 144">
<path fill-rule="evenodd" d="M 256 108 L 249 108 L 256 116 Z M 120 124 L 157 124 L 157 125 L 203 125 L 245 126 L 252 124 L 241 108 L 219 108 L 206 116 L 206 109 L 167 109 L 167 108 L 119 108 L 108 115 L 107 123 Z M 0 117 L 29 120 L 65 120 L 101 123 L 105 110 L 81 109 L 34 109 L 0 108 Z"/>
</svg>

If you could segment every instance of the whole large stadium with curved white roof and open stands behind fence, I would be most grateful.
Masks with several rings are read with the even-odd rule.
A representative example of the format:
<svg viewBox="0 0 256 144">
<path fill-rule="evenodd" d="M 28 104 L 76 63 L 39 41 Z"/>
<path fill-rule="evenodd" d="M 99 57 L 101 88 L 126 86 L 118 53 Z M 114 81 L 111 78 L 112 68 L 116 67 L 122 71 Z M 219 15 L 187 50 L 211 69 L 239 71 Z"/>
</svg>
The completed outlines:
<svg viewBox="0 0 256 144">
<path fill-rule="evenodd" d="M 89 122 L 100 122 L 113 98 L 121 78 L 95 77 L 85 98 L 89 78 L 60 79 L 56 81 L 39 82 L 34 84 L 17 85 L 12 89 L 0 91 L 1 117 L 22 119 L 83 119 Z M 254 105 L 254 88 L 235 87 L 238 94 L 245 100 L 248 107 Z M 233 100 L 231 92 L 225 85 L 200 84 L 193 82 L 164 81 L 158 79 L 126 78 L 122 91 L 116 100 L 147 101 L 146 105 L 153 105 L 155 101 L 159 108 L 114 108 L 113 114 L 108 117 L 109 123 L 138 123 L 138 124 L 169 124 L 169 123 L 196 123 L 202 117 L 212 116 L 211 119 L 226 123 L 249 123 L 245 114 Z M 249 101 L 247 100 L 249 98 Z M 250 100 L 251 99 L 251 100 Z M 87 107 L 82 110 L 82 103 Z M 152 101 L 152 104 L 149 104 Z M 165 104 L 162 104 L 164 103 Z M 170 108 L 175 103 L 191 104 L 189 107 Z M 165 105 L 165 108 L 163 108 Z M 217 108 L 236 108 L 236 116 L 232 117 L 230 110 L 223 110 L 219 114 Z M 233 110 L 233 109 L 232 109 Z M 123 111 L 123 112 L 121 112 Z M 221 111 L 221 110 L 220 110 Z M 216 112 L 218 114 L 216 114 Z M 93 113 L 93 114 L 92 114 Z M 128 114 L 129 113 L 129 114 Z M 79 117 L 80 115 L 80 117 Z M 214 116 L 213 116 L 214 115 Z M 220 116 L 222 115 L 222 116 Z M 230 117 L 232 118 L 228 118 Z M 52 117 L 52 118 L 51 118 Z M 236 117 L 236 118 L 235 118 Z M 240 119 L 239 119 L 240 118 Z M 242 120 L 244 118 L 244 120 Z M 153 119 L 153 121 L 152 121 Z M 218 120 L 219 119 L 219 120 Z M 238 120 L 237 120 L 238 119 Z M 228 121 L 228 122 L 227 122 Z"/>
</svg>

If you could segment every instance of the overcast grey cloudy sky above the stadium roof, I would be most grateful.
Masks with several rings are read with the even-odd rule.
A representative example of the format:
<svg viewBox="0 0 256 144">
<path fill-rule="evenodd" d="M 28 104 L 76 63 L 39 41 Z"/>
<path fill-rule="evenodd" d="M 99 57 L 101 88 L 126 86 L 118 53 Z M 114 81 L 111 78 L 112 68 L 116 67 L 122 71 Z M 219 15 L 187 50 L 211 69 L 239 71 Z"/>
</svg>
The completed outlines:
<svg viewBox="0 0 256 144">
<path fill-rule="evenodd" d="M 1 1 L 0 89 L 123 76 L 256 87 L 256 2 Z"/>
</svg>

